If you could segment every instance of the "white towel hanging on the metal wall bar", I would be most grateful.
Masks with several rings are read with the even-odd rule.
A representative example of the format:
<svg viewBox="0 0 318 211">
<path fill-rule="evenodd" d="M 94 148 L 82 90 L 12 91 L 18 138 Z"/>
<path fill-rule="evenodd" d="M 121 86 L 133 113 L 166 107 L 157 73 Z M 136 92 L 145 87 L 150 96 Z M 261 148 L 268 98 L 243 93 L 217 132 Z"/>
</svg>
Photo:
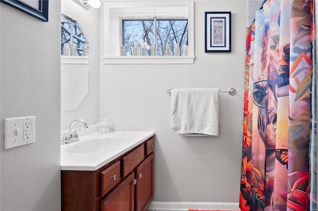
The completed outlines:
<svg viewBox="0 0 318 211">
<path fill-rule="evenodd" d="M 220 89 L 172 89 L 171 133 L 219 135 Z"/>
</svg>

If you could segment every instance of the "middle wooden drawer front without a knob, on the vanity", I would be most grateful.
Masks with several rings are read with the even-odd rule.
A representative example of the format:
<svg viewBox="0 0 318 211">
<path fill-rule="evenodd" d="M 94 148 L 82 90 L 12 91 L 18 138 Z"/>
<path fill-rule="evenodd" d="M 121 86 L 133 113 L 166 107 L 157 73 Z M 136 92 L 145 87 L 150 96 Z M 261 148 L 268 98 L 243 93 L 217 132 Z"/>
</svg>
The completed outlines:
<svg viewBox="0 0 318 211">
<path fill-rule="evenodd" d="M 132 153 L 122 158 L 123 162 L 123 177 L 127 176 L 139 163 L 145 158 L 144 145 L 138 147 Z"/>
</svg>

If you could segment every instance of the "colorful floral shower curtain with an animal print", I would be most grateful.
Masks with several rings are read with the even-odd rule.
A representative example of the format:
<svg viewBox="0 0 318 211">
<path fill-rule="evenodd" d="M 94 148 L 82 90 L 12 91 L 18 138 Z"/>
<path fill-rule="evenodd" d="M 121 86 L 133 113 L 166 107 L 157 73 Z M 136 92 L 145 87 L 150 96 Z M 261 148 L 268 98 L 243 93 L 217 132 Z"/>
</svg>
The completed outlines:
<svg viewBox="0 0 318 211">
<path fill-rule="evenodd" d="M 267 0 L 247 29 L 241 211 L 316 211 L 314 0 Z"/>
</svg>

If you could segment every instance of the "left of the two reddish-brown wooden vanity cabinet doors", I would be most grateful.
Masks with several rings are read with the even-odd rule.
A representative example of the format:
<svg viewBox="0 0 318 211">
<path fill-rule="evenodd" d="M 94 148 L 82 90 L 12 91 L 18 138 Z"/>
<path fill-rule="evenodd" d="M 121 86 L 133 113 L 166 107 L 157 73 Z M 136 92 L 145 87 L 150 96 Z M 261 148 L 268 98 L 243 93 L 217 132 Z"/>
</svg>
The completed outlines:
<svg viewBox="0 0 318 211">
<path fill-rule="evenodd" d="M 134 211 L 134 174 L 131 173 L 101 202 L 101 211 Z"/>
</svg>

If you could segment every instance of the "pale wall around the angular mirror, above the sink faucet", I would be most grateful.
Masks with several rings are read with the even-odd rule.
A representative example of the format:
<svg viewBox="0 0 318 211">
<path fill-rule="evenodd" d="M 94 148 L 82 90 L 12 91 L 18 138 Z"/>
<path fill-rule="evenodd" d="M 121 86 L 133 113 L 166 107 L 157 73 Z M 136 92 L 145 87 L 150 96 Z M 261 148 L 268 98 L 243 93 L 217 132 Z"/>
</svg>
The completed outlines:
<svg viewBox="0 0 318 211">
<path fill-rule="evenodd" d="M 77 110 L 61 111 L 61 131 L 66 131 L 74 119 L 83 119 L 88 125 L 92 125 L 97 124 L 99 118 L 100 12 L 99 8 L 93 7 L 85 10 L 72 0 L 61 1 L 61 12 L 79 22 L 79 26 L 89 43 L 88 95 Z M 77 124 L 75 128 L 77 126 L 82 127 L 82 125 Z"/>
</svg>

